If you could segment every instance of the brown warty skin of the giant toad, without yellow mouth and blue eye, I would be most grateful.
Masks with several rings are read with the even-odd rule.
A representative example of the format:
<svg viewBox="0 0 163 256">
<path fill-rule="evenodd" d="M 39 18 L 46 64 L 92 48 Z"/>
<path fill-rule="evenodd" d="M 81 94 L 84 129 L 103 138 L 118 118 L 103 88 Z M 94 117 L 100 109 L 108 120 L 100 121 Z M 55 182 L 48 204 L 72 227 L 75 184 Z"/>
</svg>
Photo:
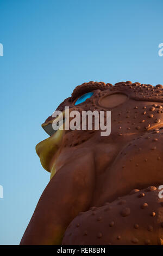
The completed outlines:
<svg viewBox="0 0 163 256">
<path fill-rule="evenodd" d="M 90 91 L 95 91 L 90 99 L 74 106 L 79 96 Z M 109 97 L 115 93 L 117 103 L 121 94 L 127 99 L 110 108 Z M 130 81 L 115 86 L 84 83 L 57 110 L 64 110 L 64 106 L 80 111 L 111 110 L 111 134 L 101 136 L 97 130 L 65 132 L 57 174 L 44 190 L 21 244 L 162 244 L 162 199 L 158 189 L 145 190 L 163 184 L 163 86 Z M 48 117 L 45 123 L 52 119 Z M 135 188 L 141 191 L 130 195 Z M 140 193 L 145 195 L 137 197 Z M 118 197 L 122 199 L 116 200 Z M 108 211 L 106 202 L 112 207 Z M 144 203 L 148 206 L 142 209 Z M 96 210 L 90 211 L 92 206 Z M 135 224 L 139 228 L 134 228 Z"/>
</svg>

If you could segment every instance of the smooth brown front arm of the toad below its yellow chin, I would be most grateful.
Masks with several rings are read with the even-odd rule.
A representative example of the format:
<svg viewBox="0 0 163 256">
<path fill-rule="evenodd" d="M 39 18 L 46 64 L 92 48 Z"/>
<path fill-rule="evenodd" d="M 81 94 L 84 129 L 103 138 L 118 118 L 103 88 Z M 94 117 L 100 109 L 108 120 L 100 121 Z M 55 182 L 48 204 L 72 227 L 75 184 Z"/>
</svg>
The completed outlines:
<svg viewBox="0 0 163 256">
<path fill-rule="evenodd" d="M 60 245 L 68 224 L 89 209 L 94 185 L 93 155 L 83 152 L 48 183 L 20 244 Z"/>
</svg>

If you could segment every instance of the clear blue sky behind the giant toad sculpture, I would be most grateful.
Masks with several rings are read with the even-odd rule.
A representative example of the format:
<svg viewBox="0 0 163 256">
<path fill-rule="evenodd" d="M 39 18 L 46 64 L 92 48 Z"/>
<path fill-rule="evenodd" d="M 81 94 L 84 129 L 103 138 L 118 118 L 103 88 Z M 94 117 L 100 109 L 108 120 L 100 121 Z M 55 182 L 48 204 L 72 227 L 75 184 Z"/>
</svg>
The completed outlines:
<svg viewBox="0 0 163 256">
<path fill-rule="evenodd" d="M 85 81 L 163 84 L 162 0 L 0 0 L 0 244 L 21 240 L 49 181 L 41 123 Z"/>
</svg>

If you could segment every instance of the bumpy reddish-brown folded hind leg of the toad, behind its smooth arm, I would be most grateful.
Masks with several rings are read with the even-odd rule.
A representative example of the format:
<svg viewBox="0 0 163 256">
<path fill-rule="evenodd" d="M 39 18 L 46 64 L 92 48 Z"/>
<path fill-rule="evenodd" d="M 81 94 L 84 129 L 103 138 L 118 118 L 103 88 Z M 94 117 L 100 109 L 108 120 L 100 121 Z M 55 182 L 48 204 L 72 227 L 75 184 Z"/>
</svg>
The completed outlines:
<svg viewBox="0 0 163 256">
<path fill-rule="evenodd" d="M 160 244 L 163 207 L 158 193 L 142 189 L 110 204 L 92 207 L 71 222 L 62 245 Z"/>
</svg>

